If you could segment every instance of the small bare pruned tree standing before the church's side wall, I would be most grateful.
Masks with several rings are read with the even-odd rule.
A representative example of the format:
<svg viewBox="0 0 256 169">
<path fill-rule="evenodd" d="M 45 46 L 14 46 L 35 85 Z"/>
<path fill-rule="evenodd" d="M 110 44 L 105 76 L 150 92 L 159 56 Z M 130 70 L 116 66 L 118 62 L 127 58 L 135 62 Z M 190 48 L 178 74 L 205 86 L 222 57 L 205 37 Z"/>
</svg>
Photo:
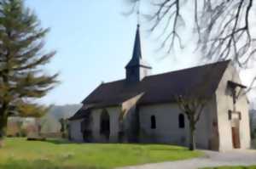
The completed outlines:
<svg viewBox="0 0 256 169">
<path fill-rule="evenodd" d="M 196 127 L 201 119 L 201 115 L 207 109 L 207 104 L 212 101 L 212 94 L 214 94 L 214 92 L 211 92 L 214 90 L 212 82 L 216 81 L 219 76 L 219 72 L 216 71 L 217 69 L 219 69 L 218 64 L 205 66 L 203 71 L 201 70 L 193 75 L 195 76 L 195 80 L 190 82 L 191 86 L 188 85 L 187 89 L 177 91 L 172 96 L 179 110 L 186 115 L 189 121 L 189 150 L 196 149 Z"/>
</svg>

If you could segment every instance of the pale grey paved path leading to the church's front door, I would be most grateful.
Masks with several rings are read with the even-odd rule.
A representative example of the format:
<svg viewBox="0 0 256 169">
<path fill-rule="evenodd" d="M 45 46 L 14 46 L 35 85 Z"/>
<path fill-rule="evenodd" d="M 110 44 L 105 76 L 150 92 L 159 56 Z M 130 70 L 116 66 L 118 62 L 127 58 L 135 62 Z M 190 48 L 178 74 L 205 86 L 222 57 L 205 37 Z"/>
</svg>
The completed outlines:
<svg viewBox="0 0 256 169">
<path fill-rule="evenodd" d="M 256 165 L 256 150 L 234 150 L 225 153 L 204 151 L 205 156 L 185 161 L 163 162 L 143 166 L 127 166 L 121 169 L 198 169 L 206 166 Z"/>
</svg>

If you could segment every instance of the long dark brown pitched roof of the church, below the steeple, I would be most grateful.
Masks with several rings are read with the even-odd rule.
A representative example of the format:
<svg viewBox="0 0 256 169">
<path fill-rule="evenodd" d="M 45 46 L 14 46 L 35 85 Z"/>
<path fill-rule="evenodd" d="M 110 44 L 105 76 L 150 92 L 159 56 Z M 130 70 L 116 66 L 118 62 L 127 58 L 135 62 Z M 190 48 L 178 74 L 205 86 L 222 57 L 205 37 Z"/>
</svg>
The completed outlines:
<svg viewBox="0 0 256 169">
<path fill-rule="evenodd" d="M 175 101 L 173 96 L 201 93 L 203 97 L 212 97 L 230 60 L 210 65 L 201 65 L 189 69 L 147 76 L 142 82 L 128 85 L 124 80 L 103 83 L 84 99 L 83 104 L 96 107 L 122 104 L 143 93 L 138 104 L 157 104 Z M 204 85 L 203 87 L 199 85 Z M 203 90 L 203 92 L 201 92 Z"/>
</svg>

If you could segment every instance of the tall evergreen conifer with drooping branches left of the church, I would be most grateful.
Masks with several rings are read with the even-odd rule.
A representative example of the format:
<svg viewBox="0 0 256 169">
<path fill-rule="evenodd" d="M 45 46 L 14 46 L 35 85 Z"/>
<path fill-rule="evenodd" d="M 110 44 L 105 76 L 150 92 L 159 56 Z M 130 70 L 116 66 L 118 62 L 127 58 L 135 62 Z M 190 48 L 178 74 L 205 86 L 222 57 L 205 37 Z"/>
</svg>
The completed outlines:
<svg viewBox="0 0 256 169">
<path fill-rule="evenodd" d="M 0 0 L 0 142 L 9 115 L 39 116 L 47 111 L 34 100 L 56 83 L 57 74 L 43 70 L 55 55 L 42 51 L 48 31 L 22 0 Z"/>
</svg>

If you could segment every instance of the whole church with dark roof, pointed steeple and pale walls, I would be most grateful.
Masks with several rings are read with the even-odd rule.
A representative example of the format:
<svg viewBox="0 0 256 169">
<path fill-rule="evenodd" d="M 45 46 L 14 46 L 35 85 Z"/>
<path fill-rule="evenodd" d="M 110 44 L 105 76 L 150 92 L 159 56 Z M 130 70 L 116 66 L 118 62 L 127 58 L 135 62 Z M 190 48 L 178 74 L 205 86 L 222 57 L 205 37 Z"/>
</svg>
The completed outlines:
<svg viewBox="0 0 256 169">
<path fill-rule="evenodd" d="M 189 121 L 176 96 L 189 93 L 207 100 L 196 125 L 198 148 L 250 148 L 246 87 L 230 60 L 152 75 L 137 25 L 125 70 L 125 79 L 102 83 L 83 100 L 82 108 L 69 119 L 72 141 L 187 146 Z"/>
</svg>

